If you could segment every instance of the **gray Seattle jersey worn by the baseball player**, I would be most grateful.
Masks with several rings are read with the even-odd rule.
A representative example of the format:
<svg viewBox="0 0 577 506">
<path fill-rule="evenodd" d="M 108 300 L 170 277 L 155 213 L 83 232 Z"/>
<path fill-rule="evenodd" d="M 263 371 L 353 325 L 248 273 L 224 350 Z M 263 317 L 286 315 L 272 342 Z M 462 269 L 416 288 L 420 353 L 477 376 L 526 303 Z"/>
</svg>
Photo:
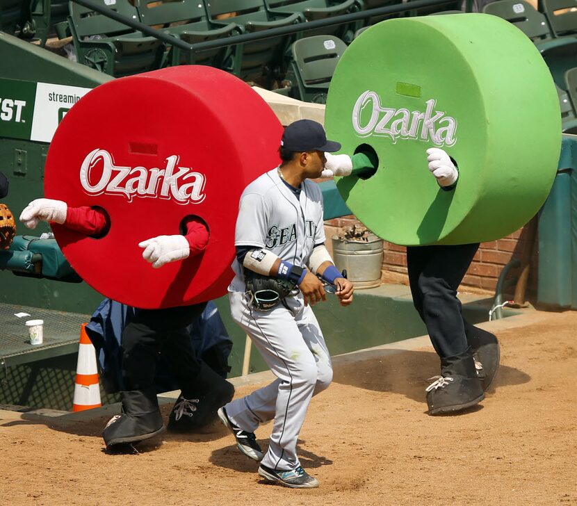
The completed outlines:
<svg viewBox="0 0 577 506">
<path fill-rule="evenodd" d="M 300 196 L 280 179 L 277 169 L 265 172 L 241 195 L 234 245 L 266 248 L 295 266 L 307 266 L 314 245 L 325 242 L 323 195 L 305 180 Z M 245 291 L 243 270 L 235 259 L 230 291 Z"/>
</svg>

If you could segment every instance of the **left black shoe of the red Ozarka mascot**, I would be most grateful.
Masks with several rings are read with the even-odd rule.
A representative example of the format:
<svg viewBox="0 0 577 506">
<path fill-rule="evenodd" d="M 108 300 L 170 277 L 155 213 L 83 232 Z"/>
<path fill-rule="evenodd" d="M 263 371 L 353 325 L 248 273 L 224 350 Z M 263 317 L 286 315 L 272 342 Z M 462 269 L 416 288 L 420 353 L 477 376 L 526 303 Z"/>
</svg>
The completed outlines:
<svg viewBox="0 0 577 506">
<path fill-rule="evenodd" d="M 139 443 L 164 432 L 155 391 L 122 392 L 122 414 L 115 415 L 104 427 L 102 437 L 106 448 Z"/>
</svg>

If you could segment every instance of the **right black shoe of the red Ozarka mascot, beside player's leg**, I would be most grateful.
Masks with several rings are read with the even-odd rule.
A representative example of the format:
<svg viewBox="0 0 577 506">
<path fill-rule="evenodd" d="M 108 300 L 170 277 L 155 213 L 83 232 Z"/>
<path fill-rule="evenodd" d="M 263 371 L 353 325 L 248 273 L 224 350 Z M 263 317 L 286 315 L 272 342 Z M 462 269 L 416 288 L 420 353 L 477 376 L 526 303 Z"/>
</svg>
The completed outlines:
<svg viewBox="0 0 577 506">
<path fill-rule="evenodd" d="M 234 386 L 202 362 L 193 385 L 182 389 L 168 417 L 170 432 L 194 432 L 218 419 L 218 408 L 232 400 Z"/>
</svg>

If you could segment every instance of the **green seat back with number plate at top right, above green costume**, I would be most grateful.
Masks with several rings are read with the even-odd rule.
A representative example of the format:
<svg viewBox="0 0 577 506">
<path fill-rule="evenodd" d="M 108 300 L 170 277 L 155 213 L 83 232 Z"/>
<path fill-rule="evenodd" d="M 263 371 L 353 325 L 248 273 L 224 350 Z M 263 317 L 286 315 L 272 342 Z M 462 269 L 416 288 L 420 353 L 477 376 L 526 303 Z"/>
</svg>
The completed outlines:
<svg viewBox="0 0 577 506">
<path fill-rule="evenodd" d="M 487 3 L 482 8 L 482 12 L 506 19 L 517 26 L 533 42 L 551 38 L 551 30 L 545 16 L 524 0 L 494 1 Z"/>
</svg>

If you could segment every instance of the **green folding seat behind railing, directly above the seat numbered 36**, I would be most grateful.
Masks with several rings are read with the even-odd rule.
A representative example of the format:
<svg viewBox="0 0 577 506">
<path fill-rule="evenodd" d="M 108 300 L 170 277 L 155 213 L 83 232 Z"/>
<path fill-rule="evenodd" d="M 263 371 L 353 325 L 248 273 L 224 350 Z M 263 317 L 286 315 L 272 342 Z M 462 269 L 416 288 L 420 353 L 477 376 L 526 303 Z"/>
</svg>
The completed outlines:
<svg viewBox="0 0 577 506">
<path fill-rule="evenodd" d="M 360 0 L 343 0 L 339 2 L 329 0 L 265 0 L 266 8 L 273 14 L 297 13 L 302 22 L 327 19 L 347 13 L 354 13 L 363 8 Z M 360 22 L 350 24 L 336 24 L 325 28 L 316 28 L 301 32 L 300 37 L 312 37 L 313 35 L 336 35 L 340 38 L 352 40 L 352 34 L 362 26 Z M 348 37 L 347 37 L 348 33 Z"/>
</svg>

